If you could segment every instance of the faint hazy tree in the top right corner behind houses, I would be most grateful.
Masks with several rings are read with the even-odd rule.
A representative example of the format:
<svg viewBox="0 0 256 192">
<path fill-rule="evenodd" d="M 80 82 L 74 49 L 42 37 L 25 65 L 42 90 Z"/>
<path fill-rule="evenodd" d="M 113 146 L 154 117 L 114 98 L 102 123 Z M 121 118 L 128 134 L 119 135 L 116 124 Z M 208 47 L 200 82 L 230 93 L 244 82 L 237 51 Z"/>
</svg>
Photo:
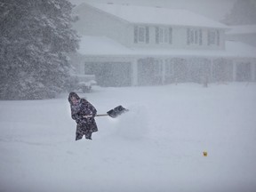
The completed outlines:
<svg viewBox="0 0 256 192">
<path fill-rule="evenodd" d="M 237 0 L 231 11 L 222 21 L 227 25 L 256 24 L 255 0 Z"/>
</svg>

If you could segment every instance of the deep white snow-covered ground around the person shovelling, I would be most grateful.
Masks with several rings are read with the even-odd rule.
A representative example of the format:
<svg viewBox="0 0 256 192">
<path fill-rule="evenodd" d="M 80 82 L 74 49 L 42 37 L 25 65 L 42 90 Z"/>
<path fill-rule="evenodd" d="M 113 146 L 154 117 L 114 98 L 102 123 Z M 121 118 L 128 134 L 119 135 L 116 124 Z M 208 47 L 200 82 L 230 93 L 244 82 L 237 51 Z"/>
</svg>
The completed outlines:
<svg viewBox="0 0 256 192">
<path fill-rule="evenodd" d="M 75 141 L 68 93 L 0 101 L 1 192 L 255 192 L 256 84 L 100 88 L 103 114 Z M 203 156 L 203 151 L 208 156 Z"/>
</svg>

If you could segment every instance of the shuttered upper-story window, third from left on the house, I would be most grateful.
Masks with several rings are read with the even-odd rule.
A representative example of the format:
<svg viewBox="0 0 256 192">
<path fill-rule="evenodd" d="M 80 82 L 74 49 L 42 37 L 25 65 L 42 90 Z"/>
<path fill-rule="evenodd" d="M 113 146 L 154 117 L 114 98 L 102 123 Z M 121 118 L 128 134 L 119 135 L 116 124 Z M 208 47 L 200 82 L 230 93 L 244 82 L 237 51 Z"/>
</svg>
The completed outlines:
<svg viewBox="0 0 256 192">
<path fill-rule="evenodd" d="M 187 29 L 187 44 L 203 44 L 202 29 L 188 28 Z"/>
</svg>

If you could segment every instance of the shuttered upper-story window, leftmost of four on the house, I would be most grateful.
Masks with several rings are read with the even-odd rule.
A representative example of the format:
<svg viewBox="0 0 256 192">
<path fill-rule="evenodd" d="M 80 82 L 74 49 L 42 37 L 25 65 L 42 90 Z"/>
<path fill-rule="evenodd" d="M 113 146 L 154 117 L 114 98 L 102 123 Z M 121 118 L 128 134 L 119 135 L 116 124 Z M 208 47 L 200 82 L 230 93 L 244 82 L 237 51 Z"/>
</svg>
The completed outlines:
<svg viewBox="0 0 256 192">
<path fill-rule="evenodd" d="M 135 26 L 134 27 L 134 43 L 146 43 L 149 42 L 149 28 L 147 26 Z"/>
</svg>

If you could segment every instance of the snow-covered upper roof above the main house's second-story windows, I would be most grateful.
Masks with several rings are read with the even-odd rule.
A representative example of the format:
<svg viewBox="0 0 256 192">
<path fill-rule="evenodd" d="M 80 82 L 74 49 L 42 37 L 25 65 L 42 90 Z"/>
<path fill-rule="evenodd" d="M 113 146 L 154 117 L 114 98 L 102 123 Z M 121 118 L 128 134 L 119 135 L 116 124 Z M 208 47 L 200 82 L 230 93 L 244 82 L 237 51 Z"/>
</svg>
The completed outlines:
<svg viewBox="0 0 256 192">
<path fill-rule="evenodd" d="M 89 3 L 88 3 L 89 4 Z M 81 4 L 86 6 L 88 4 Z M 125 4 L 93 4 L 89 6 L 108 12 L 122 20 L 131 23 L 158 24 L 158 25 L 175 25 L 191 26 L 204 28 L 228 28 L 228 26 L 208 19 L 200 14 L 186 10 L 173 10 L 162 7 L 135 6 Z"/>
</svg>

